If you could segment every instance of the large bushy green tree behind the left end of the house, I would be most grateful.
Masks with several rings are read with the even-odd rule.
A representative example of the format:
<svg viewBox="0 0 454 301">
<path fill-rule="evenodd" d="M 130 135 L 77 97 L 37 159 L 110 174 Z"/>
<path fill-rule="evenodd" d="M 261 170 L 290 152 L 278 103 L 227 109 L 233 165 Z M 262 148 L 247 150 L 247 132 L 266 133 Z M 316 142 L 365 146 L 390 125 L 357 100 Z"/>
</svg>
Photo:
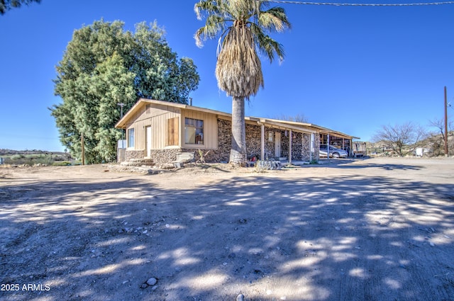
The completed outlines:
<svg viewBox="0 0 454 301">
<path fill-rule="evenodd" d="M 115 159 L 118 103 L 124 112 L 140 97 L 187 103 L 199 83 L 192 59 L 178 59 L 156 23 L 139 23 L 135 33 L 123 25 L 101 20 L 74 30 L 56 67 L 55 94 L 62 102 L 51 114 L 74 157 L 80 157 L 83 135 L 87 163 Z"/>
</svg>

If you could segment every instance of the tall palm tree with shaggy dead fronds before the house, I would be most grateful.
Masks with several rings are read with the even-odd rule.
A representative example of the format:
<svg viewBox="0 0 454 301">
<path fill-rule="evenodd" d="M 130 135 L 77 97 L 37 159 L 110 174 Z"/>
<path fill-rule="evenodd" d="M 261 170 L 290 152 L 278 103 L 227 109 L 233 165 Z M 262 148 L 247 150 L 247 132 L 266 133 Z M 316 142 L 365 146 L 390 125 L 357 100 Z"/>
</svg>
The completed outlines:
<svg viewBox="0 0 454 301">
<path fill-rule="evenodd" d="M 282 32 L 291 25 L 284 8 L 270 8 L 270 1 L 201 0 L 195 4 L 194 11 L 199 20 L 206 16 L 204 27 L 194 35 L 199 47 L 207 38 L 220 35 L 216 79 L 219 88 L 232 96 L 230 163 L 242 165 L 246 160 L 245 100 L 264 86 L 258 52 L 270 62 L 275 56 L 282 61 L 282 45 L 267 33 Z"/>
</svg>

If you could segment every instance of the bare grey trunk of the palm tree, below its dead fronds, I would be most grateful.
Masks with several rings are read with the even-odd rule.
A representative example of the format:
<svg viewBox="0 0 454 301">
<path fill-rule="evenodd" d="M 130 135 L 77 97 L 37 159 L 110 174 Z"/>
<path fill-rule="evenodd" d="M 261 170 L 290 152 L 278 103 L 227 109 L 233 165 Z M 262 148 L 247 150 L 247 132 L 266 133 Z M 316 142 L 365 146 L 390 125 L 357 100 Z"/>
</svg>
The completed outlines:
<svg viewBox="0 0 454 301">
<path fill-rule="evenodd" d="M 232 149 L 230 152 L 230 164 L 236 166 L 243 166 L 246 161 L 246 130 L 244 113 L 244 98 L 233 96 Z"/>
</svg>

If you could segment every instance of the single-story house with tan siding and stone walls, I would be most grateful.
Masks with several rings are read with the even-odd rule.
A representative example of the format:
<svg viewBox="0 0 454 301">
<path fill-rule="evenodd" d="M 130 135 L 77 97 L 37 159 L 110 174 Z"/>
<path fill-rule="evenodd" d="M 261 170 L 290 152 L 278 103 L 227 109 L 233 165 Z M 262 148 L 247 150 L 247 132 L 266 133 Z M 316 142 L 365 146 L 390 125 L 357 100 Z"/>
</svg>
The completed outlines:
<svg viewBox="0 0 454 301">
<path fill-rule="evenodd" d="M 210 151 L 206 162 L 227 162 L 231 119 L 231 114 L 218 110 L 140 98 L 116 127 L 126 130 L 126 161 L 146 158 L 162 165 L 174 161 L 179 152 L 200 149 Z M 248 160 L 316 160 L 324 137 L 336 137 L 343 147 L 355 138 L 311 123 L 257 117 L 245 117 L 245 123 Z"/>
</svg>

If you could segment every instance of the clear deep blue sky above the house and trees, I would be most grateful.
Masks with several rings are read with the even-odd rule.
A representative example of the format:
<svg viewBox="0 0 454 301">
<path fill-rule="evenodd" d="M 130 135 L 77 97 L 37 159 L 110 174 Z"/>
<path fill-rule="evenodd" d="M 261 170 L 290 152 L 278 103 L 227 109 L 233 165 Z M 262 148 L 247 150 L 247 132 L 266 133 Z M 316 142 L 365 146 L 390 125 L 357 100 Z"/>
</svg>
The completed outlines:
<svg viewBox="0 0 454 301">
<path fill-rule="evenodd" d="M 214 76 L 217 40 L 203 48 L 194 42 L 203 25 L 194 14 L 195 3 L 42 0 L 0 16 L 0 148 L 64 149 L 48 110 L 61 101 L 53 92 L 55 65 L 73 31 L 101 18 L 121 20 L 126 30 L 157 20 L 172 50 L 194 59 L 198 68 L 194 106 L 231 112 L 231 98 L 218 89 Z M 443 118 L 443 86 L 454 103 L 453 4 L 279 5 L 292 22 L 291 30 L 274 35 L 286 57 L 282 64 L 262 59 L 265 89 L 246 104 L 246 115 L 304 115 L 311 123 L 367 141 L 381 125 L 411 121 L 426 126 Z"/>
</svg>

